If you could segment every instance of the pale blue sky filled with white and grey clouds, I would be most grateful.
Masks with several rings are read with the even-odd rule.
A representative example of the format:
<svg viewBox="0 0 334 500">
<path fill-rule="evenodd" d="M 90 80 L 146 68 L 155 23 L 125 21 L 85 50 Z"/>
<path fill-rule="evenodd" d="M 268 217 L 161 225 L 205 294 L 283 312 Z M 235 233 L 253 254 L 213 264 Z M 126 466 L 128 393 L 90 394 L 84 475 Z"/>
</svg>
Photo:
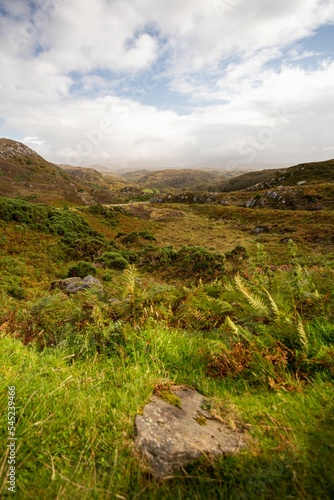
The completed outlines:
<svg viewBox="0 0 334 500">
<path fill-rule="evenodd" d="M 72 165 L 334 158 L 333 0 L 0 0 L 0 136 Z"/>
</svg>

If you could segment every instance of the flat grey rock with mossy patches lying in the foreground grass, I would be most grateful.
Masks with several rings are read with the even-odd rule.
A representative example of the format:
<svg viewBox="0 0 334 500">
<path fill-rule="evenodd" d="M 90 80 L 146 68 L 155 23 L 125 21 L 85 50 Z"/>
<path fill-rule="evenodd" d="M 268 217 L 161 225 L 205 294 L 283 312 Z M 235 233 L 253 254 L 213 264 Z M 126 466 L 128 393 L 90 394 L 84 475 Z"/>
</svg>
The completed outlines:
<svg viewBox="0 0 334 500">
<path fill-rule="evenodd" d="M 173 475 L 202 455 L 219 457 L 245 446 L 240 431 L 230 429 L 208 411 L 208 398 L 188 387 L 171 392 L 180 398 L 181 409 L 152 396 L 135 420 L 135 445 L 154 476 Z"/>
</svg>

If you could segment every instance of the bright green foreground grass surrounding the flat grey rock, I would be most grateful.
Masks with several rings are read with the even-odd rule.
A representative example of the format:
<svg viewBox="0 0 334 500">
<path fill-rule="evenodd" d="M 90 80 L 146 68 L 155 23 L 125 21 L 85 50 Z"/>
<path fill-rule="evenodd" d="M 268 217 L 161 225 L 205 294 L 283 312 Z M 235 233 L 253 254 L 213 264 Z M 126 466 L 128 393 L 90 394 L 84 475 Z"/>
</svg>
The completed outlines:
<svg viewBox="0 0 334 500">
<path fill-rule="evenodd" d="M 18 498 L 330 498 L 329 382 L 320 377 L 300 392 L 273 392 L 244 381 L 241 390 L 206 374 L 203 334 L 151 326 L 128 328 L 126 338 L 118 354 L 85 360 L 1 338 L 2 420 L 7 386 L 16 387 Z M 214 397 L 230 423 L 250 424 L 248 449 L 203 460 L 170 481 L 147 476 L 133 423 L 154 385 L 166 380 Z"/>
</svg>

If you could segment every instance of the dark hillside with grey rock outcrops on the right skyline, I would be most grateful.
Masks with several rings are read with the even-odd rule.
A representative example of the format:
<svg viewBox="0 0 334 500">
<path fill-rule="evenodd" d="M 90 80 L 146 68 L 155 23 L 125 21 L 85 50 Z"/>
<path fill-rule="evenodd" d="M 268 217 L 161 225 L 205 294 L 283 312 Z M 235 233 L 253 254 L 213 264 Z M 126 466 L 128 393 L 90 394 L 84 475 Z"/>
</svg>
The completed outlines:
<svg viewBox="0 0 334 500">
<path fill-rule="evenodd" d="M 322 210 L 334 208 L 334 160 L 304 163 L 289 168 L 250 172 L 211 186 L 210 191 L 160 193 L 159 203 L 196 203 Z"/>
</svg>

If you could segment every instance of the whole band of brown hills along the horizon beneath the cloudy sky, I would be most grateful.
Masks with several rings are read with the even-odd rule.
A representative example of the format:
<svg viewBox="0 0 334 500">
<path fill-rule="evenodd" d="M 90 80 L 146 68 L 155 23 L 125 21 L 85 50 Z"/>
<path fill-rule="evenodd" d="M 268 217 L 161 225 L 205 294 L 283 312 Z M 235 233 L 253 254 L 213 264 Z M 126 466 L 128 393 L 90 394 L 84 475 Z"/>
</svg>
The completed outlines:
<svg viewBox="0 0 334 500">
<path fill-rule="evenodd" d="M 311 210 L 333 205 L 334 160 L 241 173 L 148 168 L 121 176 L 104 166 L 95 167 L 56 165 L 20 142 L 0 139 L 0 196 L 74 205 L 145 201 L 153 194 L 154 201 L 175 203 Z M 256 199 L 250 198 L 252 191 L 257 193 Z"/>
</svg>

